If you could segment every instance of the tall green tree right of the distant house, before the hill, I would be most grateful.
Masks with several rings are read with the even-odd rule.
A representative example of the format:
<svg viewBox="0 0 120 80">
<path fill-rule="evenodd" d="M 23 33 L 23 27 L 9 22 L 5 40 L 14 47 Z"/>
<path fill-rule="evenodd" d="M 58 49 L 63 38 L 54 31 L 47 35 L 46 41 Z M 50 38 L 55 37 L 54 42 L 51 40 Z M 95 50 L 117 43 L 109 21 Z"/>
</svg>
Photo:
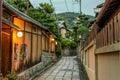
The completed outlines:
<svg viewBox="0 0 120 80">
<path fill-rule="evenodd" d="M 71 35 L 75 42 L 79 41 L 80 36 L 85 38 L 86 35 L 89 34 L 89 27 L 87 26 L 88 20 L 88 15 L 81 14 L 78 16 L 77 24 L 73 27 L 73 33 Z"/>
</svg>

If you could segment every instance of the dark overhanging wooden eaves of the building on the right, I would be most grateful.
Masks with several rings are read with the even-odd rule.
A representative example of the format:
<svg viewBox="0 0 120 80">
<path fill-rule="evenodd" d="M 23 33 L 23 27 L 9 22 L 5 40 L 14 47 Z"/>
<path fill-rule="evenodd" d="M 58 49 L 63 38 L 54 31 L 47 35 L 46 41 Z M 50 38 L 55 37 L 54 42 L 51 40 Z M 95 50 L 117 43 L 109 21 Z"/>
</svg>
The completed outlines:
<svg viewBox="0 0 120 80">
<path fill-rule="evenodd" d="M 119 5 L 120 5 L 120 0 L 106 0 L 95 23 L 99 27 L 103 27 L 105 22 L 115 12 L 115 10 L 119 7 Z"/>
</svg>

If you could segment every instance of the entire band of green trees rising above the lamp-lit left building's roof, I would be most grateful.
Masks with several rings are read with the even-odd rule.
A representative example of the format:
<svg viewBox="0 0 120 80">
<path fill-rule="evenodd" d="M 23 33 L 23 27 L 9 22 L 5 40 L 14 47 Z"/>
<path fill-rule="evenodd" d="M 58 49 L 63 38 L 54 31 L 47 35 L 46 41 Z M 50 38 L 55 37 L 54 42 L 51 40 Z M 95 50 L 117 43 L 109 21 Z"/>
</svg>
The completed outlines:
<svg viewBox="0 0 120 80">
<path fill-rule="evenodd" d="M 53 17 L 54 8 L 48 3 L 39 4 L 38 8 L 30 7 L 29 0 L 6 0 L 16 9 L 26 13 L 28 16 L 47 27 L 53 34 L 59 36 L 56 18 Z"/>
</svg>

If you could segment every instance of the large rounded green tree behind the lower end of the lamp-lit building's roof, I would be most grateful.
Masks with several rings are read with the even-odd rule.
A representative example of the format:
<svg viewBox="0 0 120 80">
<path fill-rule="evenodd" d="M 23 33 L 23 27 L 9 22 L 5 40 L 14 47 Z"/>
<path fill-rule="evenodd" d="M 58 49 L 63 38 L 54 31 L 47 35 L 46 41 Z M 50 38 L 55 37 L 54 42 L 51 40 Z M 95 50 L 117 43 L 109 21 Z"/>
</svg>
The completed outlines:
<svg viewBox="0 0 120 80">
<path fill-rule="evenodd" d="M 53 34 L 59 36 L 56 19 L 52 16 L 53 12 L 52 5 L 41 3 L 38 8 L 29 9 L 28 15 L 47 27 Z"/>
</svg>

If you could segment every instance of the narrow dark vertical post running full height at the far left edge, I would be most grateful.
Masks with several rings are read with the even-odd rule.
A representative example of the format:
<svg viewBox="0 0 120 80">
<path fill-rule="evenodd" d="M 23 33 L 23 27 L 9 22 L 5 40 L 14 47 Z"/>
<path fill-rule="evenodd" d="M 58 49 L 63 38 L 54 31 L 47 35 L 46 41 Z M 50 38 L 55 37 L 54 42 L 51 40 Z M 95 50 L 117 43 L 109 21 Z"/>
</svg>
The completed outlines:
<svg viewBox="0 0 120 80">
<path fill-rule="evenodd" d="M 1 67 L 2 67 L 2 0 L 0 0 L 0 80 L 2 80 L 2 73 L 1 73 Z"/>
</svg>

